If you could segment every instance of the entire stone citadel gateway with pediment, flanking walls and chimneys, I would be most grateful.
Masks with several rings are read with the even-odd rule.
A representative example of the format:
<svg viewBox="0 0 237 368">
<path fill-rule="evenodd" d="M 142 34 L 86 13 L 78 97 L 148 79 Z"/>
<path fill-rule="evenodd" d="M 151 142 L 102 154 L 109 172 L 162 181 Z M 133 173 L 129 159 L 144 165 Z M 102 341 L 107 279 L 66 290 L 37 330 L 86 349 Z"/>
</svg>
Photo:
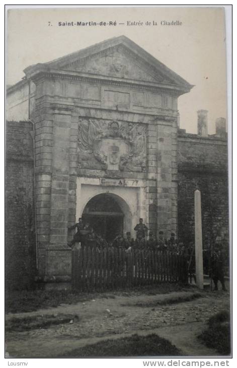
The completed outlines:
<svg viewBox="0 0 237 368">
<path fill-rule="evenodd" d="M 7 97 L 10 287 L 16 243 L 30 249 L 30 275 L 68 282 L 67 229 L 81 217 L 107 241 L 118 232 L 134 238 L 139 218 L 153 234 L 188 227 L 192 237 L 197 187 L 205 234 L 228 232 L 225 124 L 208 136 L 201 110 L 198 135 L 179 129 L 177 100 L 191 84 L 125 36 L 24 72 Z M 24 213 L 19 224 L 14 209 Z"/>
</svg>

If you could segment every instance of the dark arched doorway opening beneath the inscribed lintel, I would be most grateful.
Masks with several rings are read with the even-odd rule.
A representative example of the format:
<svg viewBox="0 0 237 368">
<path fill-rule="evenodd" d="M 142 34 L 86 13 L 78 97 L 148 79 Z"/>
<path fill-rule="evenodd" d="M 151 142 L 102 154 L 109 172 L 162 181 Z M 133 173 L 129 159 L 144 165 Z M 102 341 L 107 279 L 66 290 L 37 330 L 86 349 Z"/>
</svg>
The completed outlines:
<svg viewBox="0 0 237 368">
<path fill-rule="evenodd" d="M 113 193 L 101 193 L 91 198 L 83 210 L 82 217 L 107 241 L 112 241 L 117 233 L 131 231 L 129 206 Z"/>
</svg>

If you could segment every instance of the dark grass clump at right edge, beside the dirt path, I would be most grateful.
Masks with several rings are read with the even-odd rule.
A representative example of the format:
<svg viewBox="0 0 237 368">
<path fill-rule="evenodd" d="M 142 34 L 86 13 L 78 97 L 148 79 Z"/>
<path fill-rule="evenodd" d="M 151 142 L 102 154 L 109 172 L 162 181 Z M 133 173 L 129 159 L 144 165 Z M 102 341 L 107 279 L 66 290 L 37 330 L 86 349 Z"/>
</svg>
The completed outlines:
<svg viewBox="0 0 237 368">
<path fill-rule="evenodd" d="M 229 312 L 223 311 L 212 316 L 208 320 L 208 328 L 198 338 L 221 355 L 229 355 L 231 351 Z"/>
</svg>

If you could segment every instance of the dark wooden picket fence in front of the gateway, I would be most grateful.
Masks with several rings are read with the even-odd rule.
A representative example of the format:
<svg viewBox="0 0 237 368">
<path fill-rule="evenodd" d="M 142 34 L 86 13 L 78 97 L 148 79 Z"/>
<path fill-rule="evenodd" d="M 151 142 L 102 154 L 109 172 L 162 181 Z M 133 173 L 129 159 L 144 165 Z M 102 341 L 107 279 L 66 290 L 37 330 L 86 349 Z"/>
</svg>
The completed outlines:
<svg viewBox="0 0 237 368">
<path fill-rule="evenodd" d="M 72 287 L 82 291 L 188 282 L 187 259 L 169 252 L 82 246 L 72 250 Z"/>
</svg>

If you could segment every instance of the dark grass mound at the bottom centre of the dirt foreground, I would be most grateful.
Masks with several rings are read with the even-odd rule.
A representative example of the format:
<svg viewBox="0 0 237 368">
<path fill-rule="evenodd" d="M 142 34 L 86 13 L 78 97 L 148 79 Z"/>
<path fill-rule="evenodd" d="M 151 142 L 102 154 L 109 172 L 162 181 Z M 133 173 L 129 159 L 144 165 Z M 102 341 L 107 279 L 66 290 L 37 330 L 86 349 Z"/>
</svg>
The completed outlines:
<svg viewBox="0 0 237 368">
<path fill-rule="evenodd" d="M 156 334 L 146 336 L 132 335 L 120 339 L 100 341 L 96 344 L 73 349 L 64 357 L 114 357 L 114 356 L 177 356 L 181 350 L 170 341 Z"/>
</svg>

